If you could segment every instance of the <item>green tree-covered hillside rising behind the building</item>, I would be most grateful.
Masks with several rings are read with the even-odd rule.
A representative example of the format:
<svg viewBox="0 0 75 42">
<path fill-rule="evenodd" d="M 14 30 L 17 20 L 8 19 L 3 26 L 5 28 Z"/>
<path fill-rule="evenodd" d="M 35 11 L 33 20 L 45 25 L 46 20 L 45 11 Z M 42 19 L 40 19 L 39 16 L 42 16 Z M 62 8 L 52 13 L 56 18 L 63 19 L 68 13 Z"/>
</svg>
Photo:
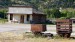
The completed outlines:
<svg viewBox="0 0 75 42">
<path fill-rule="evenodd" d="M 75 8 L 75 0 L 0 0 L 0 8 L 8 8 L 12 5 L 31 5 L 33 8 L 47 14 L 47 18 L 71 18 L 74 17 L 71 14 L 74 14 L 72 8 Z M 68 10 L 65 13 L 63 11 L 59 12 L 60 7 L 63 8 L 62 10 L 71 8 L 71 12 L 67 12 Z M 68 13 L 69 16 L 67 15 Z M 0 13 L 0 15 L 3 14 Z"/>
</svg>

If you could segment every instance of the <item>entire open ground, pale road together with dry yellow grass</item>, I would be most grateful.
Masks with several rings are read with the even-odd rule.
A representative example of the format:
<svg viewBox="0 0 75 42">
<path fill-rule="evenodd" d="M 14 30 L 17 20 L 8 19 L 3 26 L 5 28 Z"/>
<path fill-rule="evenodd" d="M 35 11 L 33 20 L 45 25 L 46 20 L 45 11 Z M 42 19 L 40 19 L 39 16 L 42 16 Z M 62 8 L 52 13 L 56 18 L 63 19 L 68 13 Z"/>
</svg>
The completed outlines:
<svg viewBox="0 0 75 42">
<path fill-rule="evenodd" d="M 31 32 L 30 30 L 30 24 L 0 24 L 0 42 L 75 42 L 75 39 L 36 38 L 33 34 L 26 34 Z M 56 26 L 47 25 L 47 31 L 56 32 Z M 73 25 L 73 33 L 75 33 L 75 25 Z"/>
</svg>

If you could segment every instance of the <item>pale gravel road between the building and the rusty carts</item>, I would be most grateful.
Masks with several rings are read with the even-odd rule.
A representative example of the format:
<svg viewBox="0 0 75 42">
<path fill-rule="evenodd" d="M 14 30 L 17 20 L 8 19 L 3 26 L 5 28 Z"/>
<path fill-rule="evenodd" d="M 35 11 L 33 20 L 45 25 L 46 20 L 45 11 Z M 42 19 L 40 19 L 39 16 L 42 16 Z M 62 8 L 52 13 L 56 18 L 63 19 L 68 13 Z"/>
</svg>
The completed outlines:
<svg viewBox="0 0 75 42">
<path fill-rule="evenodd" d="M 30 24 L 0 24 L 0 32 L 15 31 L 15 32 L 31 32 Z M 47 25 L 47 31 L 56 34 L 55 25 Z M 75 36 L 75 25 L 73 25 L 73 33 Z"/>
</svg>

